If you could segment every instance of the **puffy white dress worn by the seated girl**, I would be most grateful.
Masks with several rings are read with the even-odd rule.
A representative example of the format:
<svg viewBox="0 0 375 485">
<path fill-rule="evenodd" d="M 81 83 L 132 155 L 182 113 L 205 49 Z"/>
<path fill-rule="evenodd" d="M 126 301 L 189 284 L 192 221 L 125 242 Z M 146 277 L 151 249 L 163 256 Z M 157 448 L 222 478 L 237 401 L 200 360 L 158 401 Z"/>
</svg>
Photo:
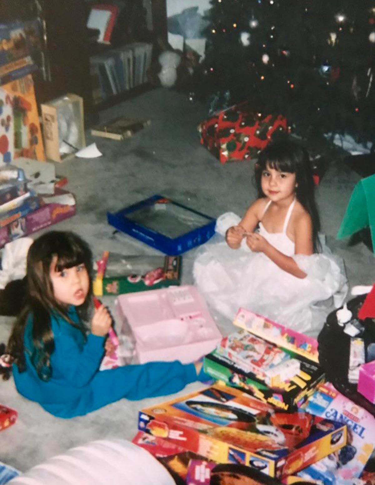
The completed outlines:
<svg viewBox="0 0 375 485">
<path fill-rule="evenodd" d="M 282 232 L 269 233 L 260 222 L 259 234 L 295 259 L 307 274 L 305 278 L 290 275 L 263 253 L 252 252 L 245 238 L 239 249 L 231 249 L 223 236 L 240 221 L 233 212 L 218 218 L 216 232 L 221 237 L 215 236 L 214 241 L 200 248 L 193 275 L 208 303 L 231 320 L 238 308 L 244 307 L 298 332 L 316 336 L 332 305 L 339 307 L 344 301 L 347 279 L 344 264 L 331 254 L 322 236 L 322 253 L 294 254 L 295 244 L 286 235 L 294 203 L 285 216 Z"/>
</svg>

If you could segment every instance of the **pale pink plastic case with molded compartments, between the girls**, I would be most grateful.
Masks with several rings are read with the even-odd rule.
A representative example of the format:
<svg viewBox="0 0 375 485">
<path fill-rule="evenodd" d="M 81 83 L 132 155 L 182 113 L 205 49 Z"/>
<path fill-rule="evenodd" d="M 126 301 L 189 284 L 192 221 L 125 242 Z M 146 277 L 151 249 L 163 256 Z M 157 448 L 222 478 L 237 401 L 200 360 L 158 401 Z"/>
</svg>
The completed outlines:
<svg viewBox="0 0 375 485">
<path fill-rule="evenodd" d="M 122 334 L 135 342 L 138 362 L 193 362 L 221 340 L 203 297 L 194 286 L 171 286 L 120 295 L 116 300 Z"/>
</svg>

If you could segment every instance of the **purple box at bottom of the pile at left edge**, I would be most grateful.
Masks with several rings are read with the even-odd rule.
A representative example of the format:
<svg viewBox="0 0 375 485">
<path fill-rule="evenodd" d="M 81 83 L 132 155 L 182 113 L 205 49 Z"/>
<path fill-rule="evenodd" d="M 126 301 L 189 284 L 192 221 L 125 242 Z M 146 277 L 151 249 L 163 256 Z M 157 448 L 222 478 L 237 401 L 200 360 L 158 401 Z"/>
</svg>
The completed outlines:
<svg viewBox="0 0 375 485">
<path fill-rule="evenodd" d="M 74 204 L 71 203 L 74 201 L 73 195 L 62 189 L 56 189 L 54 196 L 56 195 L 66 196 L 68 203 L 64 203 L 63 198 L 60 199 L 60 202 L 52 202 L 52 197 L 50 197 L 51 202 L 48 203 L 48 197 L 45 196 L 39 209 L 0 228 L 0 247 L 7 242 L 14 241 L 22 236 L 28 236 L 40 229 L 72 217 L 76 213 L 75 202 Z"/>
</svg>

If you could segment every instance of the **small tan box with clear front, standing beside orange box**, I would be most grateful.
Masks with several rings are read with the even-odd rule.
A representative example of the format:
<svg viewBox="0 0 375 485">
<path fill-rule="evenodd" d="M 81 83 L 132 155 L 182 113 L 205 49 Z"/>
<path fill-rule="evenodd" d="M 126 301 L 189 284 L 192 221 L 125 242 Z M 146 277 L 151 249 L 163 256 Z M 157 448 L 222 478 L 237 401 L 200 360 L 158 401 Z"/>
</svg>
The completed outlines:
<svg viewBox="0 0 375 485">
<path fill-rule="evenodd" d="M 63 162 L 86 146 L 83 99 L 66 94 L 41 105 L 46 156 Z"/>
</svg>

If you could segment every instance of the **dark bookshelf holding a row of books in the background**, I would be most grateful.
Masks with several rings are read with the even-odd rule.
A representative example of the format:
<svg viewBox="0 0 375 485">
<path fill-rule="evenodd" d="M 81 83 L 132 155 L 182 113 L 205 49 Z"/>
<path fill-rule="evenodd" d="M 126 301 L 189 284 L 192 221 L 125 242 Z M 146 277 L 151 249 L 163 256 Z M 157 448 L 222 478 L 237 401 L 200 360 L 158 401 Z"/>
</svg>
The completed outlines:
<svg viewBox="0 0 375 485">
<path fill-rule="evenodd" d="M 141 9 L 148 2 L 152 31 L 137 29 L 137 18 L 128 11 L 123 15 L 120 12 L 117 21 L 122 24 L 117 32 L 116 28 L 113 30 L 112 45 L 99 45 L 90 39 L 92 32 L 86 24 L 91 6 L 100 1 L 4 0 L 2 8 L 7 20 L 25 17 L 27 12 L 28 16 L 36 14 L 45 28 L 47 68 L 34 74 L 38 105 L 67 92 L 75 93 L 83 98 L 86 122 L 90 123 L 98 111 L 151 88 L 145 72 L 151 64 L 156 39 L 167 39 L 166 0 L 113 3 L 119 5 L 121 1 L 132 6 L 138 1 Z M 130 22 L 132 29 L 126 25 Z"/>
</svg>

